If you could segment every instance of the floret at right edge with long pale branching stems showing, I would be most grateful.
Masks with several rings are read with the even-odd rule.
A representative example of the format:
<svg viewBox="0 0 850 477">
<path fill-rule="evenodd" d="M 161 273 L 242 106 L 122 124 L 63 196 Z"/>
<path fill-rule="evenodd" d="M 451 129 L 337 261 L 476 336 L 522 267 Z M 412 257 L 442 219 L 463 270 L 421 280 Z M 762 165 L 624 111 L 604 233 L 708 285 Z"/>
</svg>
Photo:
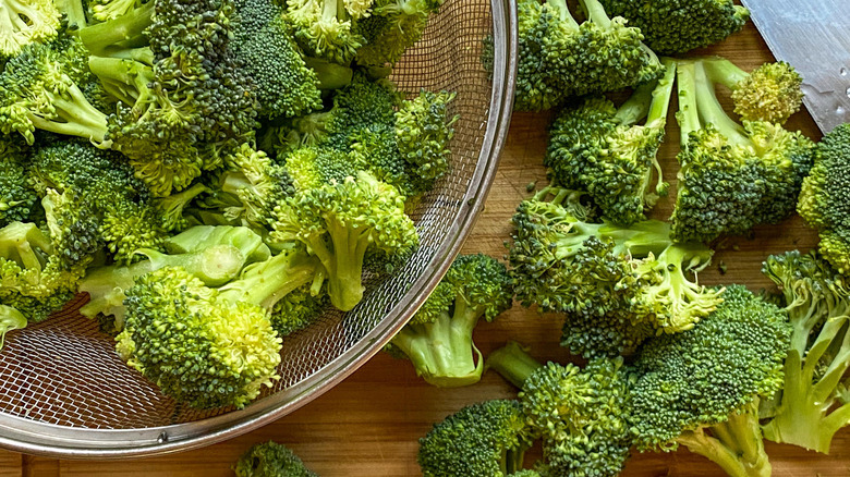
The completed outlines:
<svg viewBox="0 0 850 477">
<path fill-rule="evenodd" d="M 838 402 L 850 367 L 850 283 L 815 253 L 772 255 L 763 272 L 779 286 L 792 326 L 781 393 L 763 409 L 764 436 L 829 453 L 850 424 L 850 405 Z"/>
</svg>

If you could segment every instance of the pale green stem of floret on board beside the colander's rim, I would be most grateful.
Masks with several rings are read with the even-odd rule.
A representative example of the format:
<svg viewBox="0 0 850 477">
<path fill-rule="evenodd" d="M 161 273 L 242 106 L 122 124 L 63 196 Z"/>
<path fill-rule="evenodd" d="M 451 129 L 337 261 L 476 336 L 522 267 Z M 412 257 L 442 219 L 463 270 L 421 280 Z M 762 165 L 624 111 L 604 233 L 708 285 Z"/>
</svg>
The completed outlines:
<svg viewBox="0 0 850 477">
<path fill-rule="evenodd" d="M 481 380 L 484 357 L 472 341 L 481 314 L 463 297 L 454 301 L 454 313 L 441 313 L 427 323 L 409 323 L 393 338 L 413 363 L 416 374 L 439 388 L 459 388 Z"/>
</svg>

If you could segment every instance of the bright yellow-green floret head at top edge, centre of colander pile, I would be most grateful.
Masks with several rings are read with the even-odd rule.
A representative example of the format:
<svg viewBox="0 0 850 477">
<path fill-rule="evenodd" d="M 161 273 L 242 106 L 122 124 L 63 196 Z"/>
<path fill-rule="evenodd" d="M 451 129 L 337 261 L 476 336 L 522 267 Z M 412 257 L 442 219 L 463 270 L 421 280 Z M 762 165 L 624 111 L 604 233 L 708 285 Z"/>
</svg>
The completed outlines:
<svg viewBox="0 0 850 477">
<path fill-rule="evenodd" d="M 287 2 L 286 19 L 308 57 L 348 64 L 364 44 L 356 23 L 371 7 L 371 1 L 294 0 Z"/>
</svg>

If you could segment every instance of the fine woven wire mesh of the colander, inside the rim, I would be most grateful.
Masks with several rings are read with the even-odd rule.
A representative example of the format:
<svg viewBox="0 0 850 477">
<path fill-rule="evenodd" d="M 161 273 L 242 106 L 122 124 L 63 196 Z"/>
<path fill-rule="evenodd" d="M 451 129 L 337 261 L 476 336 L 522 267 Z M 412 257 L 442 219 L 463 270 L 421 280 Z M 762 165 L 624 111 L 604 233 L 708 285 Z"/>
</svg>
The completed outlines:
<svg viewBox="0 0 850 477">
<path fill-rule="evenodd" d="M 448 0 L 397 65 L 391 78 L 409 95 L 421 88 L 458 93 L 453 170 L 413 213 L 422 243 L 415 256 L 394 277 L 372 280 L 355 310 L 328 310 L 314 326 L 288 337 L 281 379 L 259 399 L 323 372 L 404 299 L 410 284 L 435 266 L 440 243 L 459 232 L 452 224 L 460 219 L 486 130 L 491 85 L 479 56 L 491 29 L 488 0 Z M 0 354 L 0 413 L 82 430 L 168 426 L 229 411 L 187 409 L 160 394 L 121 362 L 113 340 L 96 322 L 76 313 L 86 299 L 80 296 L 47 322 L 9 333 Z"/>
</svg>

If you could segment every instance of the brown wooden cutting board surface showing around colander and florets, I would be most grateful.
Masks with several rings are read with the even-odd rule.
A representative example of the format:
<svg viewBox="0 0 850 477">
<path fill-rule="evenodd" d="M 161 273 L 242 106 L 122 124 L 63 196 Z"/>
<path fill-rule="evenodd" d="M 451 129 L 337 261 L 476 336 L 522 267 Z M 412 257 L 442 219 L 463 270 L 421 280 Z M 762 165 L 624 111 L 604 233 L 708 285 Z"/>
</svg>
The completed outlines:
<svg viewBox="0 0 850 477">
<path fill-rule="evenodd" d="M 722 54 L 751 69 L 773 57 L 757 32 L 749 25 L 721 45 L 703 52 Z M 671 107 L 675 110 L 676 106 Z M 671 117 L 672 118 L 672 117 Z M 509 219 L 517 204 L 529 195 L 529 184 L 545 183 L 542 157 L 546 145 L 546 114 L 515 113 L 486 208 L 463 252 L 482 252 L 501 257 L 510 234 Z M 671 119 L 672 121 L 672 119 Z M 660 151 L 665 175 L 675 182 L 678 131 L 668 129 L 668 144 Z M 805 112 L 797 114 L 788 127 L 800 129 L 813 138 L 819 134 Z M 670 199 L 655 216 L 666 218 Z M 712 266 L 700 277 L 706 284 L 744 283 L 753 290 L 769 286 L 760 273 L 769 253 L 791 248 L 807 249 L 816 236 L 799 218 L 778 225 L 760 227 L 752 237 L 725 241 L 715 262 L 725 262 L 727 273 Z M 566 362 L 568 354 L 558 345 L 560 321 L 520 306 L 493 323 L 481 323 L 475 341 L 486 354 L 509 339 L 533 347 L 538 359 Z M 0 450 L 0 477 L 71 476 L 231 476 L 232 463 L 248 447 L 270 439 L 290 445 L 321 476 L 416 476 L 417 439 L 433 423 L 460 407 L 484 399 L 510 397 L 515 390 L 493 374 L 472 387 L 433 388 L 413 372 L 409 363 L 378 354 L 339 386 L 301 409 L 251 433 L 201 450 L 155 458 L 131 461 L 64 461 L 20 455 Z M 830 455 L 799 448 L 767 443 L 775 476 L 850 476 L 850 429 L 838 433 Z M 531 458 L 538 453 L 532 452 Z M 635 454 L 624 477 L 720 476 L 721 470 L 705 458 L 680 450 L 669 454 Z"/>
</svg>

